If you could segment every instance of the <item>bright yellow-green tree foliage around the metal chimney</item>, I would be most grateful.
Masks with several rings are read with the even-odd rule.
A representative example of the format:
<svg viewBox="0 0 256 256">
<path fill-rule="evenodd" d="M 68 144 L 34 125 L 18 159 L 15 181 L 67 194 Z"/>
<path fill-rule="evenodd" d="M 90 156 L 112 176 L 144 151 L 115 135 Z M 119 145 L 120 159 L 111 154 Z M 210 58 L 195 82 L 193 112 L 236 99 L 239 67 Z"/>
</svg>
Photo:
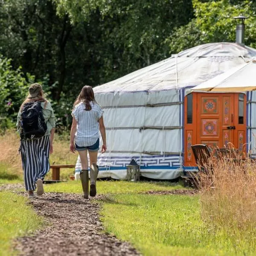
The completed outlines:
<svg viewBox="0 0 256 256">
<path fill-rule="evenodd" d="M 166 39 L 171 52 L 211 42 L 235 42 L 236 21 L 240 14 L 249 17 L 245 21 L 245 43 L 256 47 L 256 3 L 254 1 L 193 0 L 195 18 L 176 29 L 175 37 Z"/>
</svg>

